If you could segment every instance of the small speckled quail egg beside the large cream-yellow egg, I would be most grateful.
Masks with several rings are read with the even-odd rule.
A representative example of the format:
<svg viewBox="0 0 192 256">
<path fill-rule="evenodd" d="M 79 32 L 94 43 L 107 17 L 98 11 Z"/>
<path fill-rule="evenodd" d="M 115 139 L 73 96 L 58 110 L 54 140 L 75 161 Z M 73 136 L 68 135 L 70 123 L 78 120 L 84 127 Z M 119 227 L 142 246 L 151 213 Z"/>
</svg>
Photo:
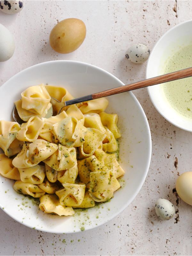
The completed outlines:
<svg viewBox="0 0 192 256">
<path fill-rule="evenodd" d="M 161 220 L 170 220 L 175 213 L 175 207 L 167 199 L 159 198 L 155 204 L 155 212 Z"/>
</svg>

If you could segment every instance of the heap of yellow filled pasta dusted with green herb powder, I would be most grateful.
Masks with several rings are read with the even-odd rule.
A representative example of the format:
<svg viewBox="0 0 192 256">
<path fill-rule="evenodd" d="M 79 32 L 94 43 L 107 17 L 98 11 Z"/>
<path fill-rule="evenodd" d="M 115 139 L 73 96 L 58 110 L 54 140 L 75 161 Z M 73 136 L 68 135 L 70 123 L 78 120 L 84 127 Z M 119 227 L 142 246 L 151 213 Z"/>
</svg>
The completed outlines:
<svg viewBox="0 0 192 256">
<path fill-rule="evenodd" d="M 31 86 L 15 102 L 26 123 L 0 121 L 0 174 L 15 180 L 16 192 L 39 198 L 44 213 L 70 216 L 75 208 L 108 201 L 120 188 L 117 178 L 124 170 L 115 153 L 121 134 L 117 115 L 104 112 L 107 99 L 67 106 L 52 116 L 51 97 L 74 99 L 62 87 Z"/>
</svg>

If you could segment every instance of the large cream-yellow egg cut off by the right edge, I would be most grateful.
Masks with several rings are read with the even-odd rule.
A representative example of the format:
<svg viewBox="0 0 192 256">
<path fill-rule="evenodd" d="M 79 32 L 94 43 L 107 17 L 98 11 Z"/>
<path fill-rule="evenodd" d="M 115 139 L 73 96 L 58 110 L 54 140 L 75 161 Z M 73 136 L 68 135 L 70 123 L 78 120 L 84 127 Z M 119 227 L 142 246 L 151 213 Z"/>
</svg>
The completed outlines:
<svg viewBox="0 0 192 256">
<path fill-rule="evenodd" d="M 185 203 L 192 205 L 192 172 L 184 172 L 179 176 L 176 191 Z"/>
</svg>

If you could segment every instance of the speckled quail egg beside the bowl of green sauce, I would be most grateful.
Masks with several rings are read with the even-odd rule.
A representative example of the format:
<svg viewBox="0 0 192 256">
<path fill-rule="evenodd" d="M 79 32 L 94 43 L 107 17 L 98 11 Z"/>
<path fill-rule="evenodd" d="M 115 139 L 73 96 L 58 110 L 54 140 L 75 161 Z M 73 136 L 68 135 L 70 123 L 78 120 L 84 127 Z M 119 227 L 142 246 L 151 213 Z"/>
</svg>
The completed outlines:
<svg viewBox="0 0 192 256">
<path fill-rule="evenodd" d="M 150 51 L 145 44 L 134 44 L 127 50 L 125 57 L 134 63 L 143 63 L 149 57 Z"/>
</svg>

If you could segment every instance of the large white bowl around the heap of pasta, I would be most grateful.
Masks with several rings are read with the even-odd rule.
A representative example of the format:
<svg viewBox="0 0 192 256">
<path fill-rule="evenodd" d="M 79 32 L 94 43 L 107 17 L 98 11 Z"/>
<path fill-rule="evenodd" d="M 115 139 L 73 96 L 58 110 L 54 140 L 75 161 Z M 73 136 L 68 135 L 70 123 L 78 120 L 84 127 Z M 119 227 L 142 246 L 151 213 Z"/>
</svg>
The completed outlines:
<svg viewBox="0 0 192 256">
<path fill-rule="evenodd" d="M 80 97 L 124 85 L 107 71 L 90 64 L 58 60 L 37 64 L 9 79 L 0 87 L 0 119 L 11 120 L 13 102 L 27 87 L 40 83 L 64 86 Z M 107 111 L 117 113 L 120 140 L 120 163 L 125 175 L 122 188 L 110 202 L 77 211 L 74 216 L 44 214 L 28 197 L 17 194 L 13 181 L 0 177 L 0 206 L 13 219 L 30 227 L 51 233 L 73 233 L 98 227 L 122 212 L 138 194 L 146 178 L 151 158 L 151 135 L 147 118 L 132 92 L 108 97 Z M 30 208 L 29 208 L 30 206 Z"/>
</svg>

